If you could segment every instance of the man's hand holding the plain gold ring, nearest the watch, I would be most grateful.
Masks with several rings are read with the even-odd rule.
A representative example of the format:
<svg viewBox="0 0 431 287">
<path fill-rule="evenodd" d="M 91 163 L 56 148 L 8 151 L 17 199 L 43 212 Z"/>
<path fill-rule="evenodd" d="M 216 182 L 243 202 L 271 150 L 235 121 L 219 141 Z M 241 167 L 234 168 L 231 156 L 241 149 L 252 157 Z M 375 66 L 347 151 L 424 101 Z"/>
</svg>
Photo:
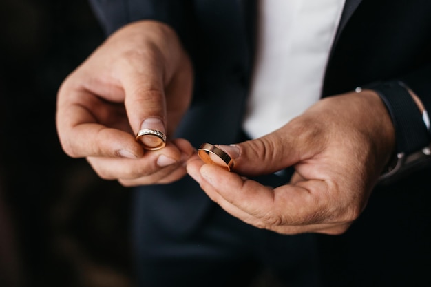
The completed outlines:
<svg viewBox="0 0 431 287">
<path fill-rule="evenodd" d="M 209 197 L 244 222 L 277 233 L 344 233 L 364 210 L 395 146 L 394 129 L 375 92 L 324 98 L 273 133 L 220 146 L 228 172 L 197 156 L 188 173 Z M 244 176 L 294 166 L 291 182 L 265 187 Z"/>
</svg>

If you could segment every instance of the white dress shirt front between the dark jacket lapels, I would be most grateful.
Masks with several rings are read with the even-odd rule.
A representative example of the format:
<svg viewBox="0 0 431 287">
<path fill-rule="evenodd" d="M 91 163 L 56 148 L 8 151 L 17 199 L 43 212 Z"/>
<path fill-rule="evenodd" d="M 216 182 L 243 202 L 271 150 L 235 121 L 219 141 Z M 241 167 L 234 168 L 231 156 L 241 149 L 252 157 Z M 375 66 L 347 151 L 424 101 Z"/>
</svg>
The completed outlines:
<svg viewBox="0 0 431 287">
<path fill-rule="evenodd" d="M 344 0 L 260 0 L 244 130 L 268 134 L 319 100 Z"/>
</svg>

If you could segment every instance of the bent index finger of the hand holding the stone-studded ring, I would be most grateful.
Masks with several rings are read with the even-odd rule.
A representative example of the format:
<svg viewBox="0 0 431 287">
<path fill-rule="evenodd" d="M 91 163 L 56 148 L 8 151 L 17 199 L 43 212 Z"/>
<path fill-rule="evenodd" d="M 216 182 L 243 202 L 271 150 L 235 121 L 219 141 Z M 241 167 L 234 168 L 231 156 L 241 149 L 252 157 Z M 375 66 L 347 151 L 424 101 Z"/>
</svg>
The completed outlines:
<svg viewBox="0 0 431 287">
<path fill-rule="evenodd" d="M 59 90 L 56 127 L 65 153 L 74 158 L 143 156 L 143 149 L 132 134 L 99 123 L 94 113 L 105 107 L 107 103 L 85 89 L 65 86 Z M 114 105 L 109 109 L 102 113 L 121 112 Z"/>
</svg>

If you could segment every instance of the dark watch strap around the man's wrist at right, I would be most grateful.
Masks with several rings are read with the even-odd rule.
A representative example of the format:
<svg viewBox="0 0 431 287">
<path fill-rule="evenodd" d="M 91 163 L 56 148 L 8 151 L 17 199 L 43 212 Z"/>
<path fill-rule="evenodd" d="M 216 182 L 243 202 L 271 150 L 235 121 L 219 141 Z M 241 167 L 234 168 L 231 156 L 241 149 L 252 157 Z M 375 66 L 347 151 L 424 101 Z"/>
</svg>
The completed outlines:
<svg viewBox="0 0 431 287">
<path fill-rule="evenodd" d="M 403 83 L 389 81 L 363 88 L 377 92 L 386 105 L 395 127 L 397 153 L 409 155 L 430 144 L 421 111 Z"/>
</svg>

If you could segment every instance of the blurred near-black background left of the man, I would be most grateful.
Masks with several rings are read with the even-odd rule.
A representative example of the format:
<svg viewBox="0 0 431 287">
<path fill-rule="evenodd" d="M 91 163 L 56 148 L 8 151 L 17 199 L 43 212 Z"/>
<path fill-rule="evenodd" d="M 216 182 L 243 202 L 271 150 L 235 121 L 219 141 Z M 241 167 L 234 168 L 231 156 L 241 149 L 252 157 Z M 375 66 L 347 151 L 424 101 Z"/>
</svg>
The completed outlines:
<svg viewBox="0 0 431 287">
<path fill-rule="evenodd" d="M 68 158 L 59 85 L 103 33 L 86 0 L 0 1 L 0 286 L 133 286 L 129 191 Z"/>
</svg>

